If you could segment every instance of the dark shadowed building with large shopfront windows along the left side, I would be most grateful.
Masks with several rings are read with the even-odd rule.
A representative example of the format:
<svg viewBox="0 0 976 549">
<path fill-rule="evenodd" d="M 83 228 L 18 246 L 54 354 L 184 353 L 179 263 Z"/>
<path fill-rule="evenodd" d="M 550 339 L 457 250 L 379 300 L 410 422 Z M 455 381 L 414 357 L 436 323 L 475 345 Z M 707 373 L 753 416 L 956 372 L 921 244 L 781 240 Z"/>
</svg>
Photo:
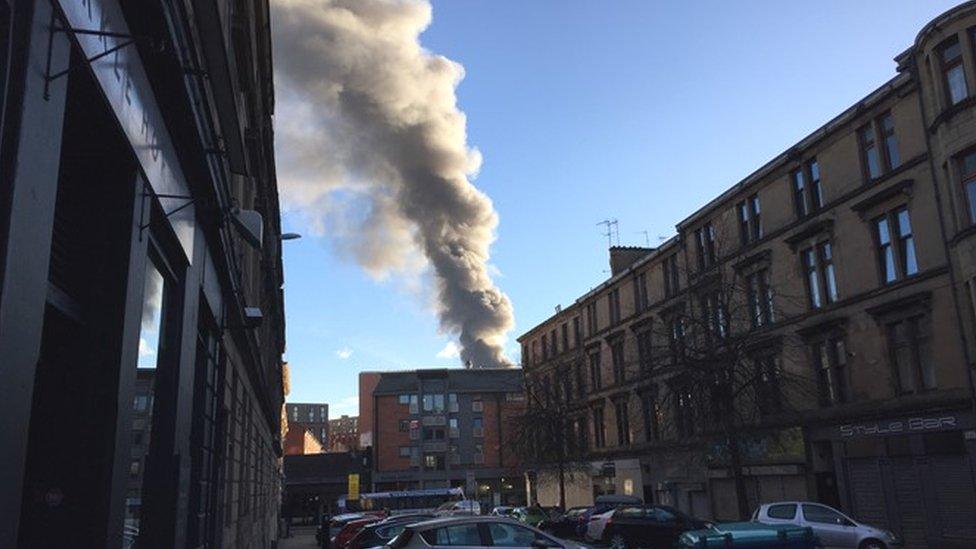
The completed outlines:
<svg viewBox="0 0 976 549">
<path fill-rule="evenodd" d="M 0 546 L 268 547 L 267 2 L 0 1 Z"/>
</svg>

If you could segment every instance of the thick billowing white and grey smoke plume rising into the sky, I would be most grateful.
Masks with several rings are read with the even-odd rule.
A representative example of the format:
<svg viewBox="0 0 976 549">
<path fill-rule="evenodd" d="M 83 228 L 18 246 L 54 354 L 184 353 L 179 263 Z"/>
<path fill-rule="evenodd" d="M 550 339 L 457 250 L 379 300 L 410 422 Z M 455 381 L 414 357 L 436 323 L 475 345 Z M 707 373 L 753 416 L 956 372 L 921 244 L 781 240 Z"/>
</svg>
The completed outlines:
<svg viewBox="0 0 976 549">
<path fill-rule="evenodd" d="M 278 173 L 287 207 L 370 274 L 431 267 L 461 361 L 510 366 L 512 306 L 491 280 L 498 215 L 470 182 L 459 64 L 425 50 L 425 0 L 272 2 Z"/>
</svg>

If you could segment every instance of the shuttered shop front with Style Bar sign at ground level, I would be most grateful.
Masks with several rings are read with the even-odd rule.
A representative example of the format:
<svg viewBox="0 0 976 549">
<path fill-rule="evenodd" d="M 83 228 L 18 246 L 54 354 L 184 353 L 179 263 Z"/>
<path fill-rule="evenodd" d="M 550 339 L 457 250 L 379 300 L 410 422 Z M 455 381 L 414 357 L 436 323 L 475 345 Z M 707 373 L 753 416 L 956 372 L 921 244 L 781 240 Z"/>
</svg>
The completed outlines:
<svg viewBox="0 0 976 549">
<path fill-rule="evenodd" d="M 906 547 L 976 546 L 974 427 L 956 410 L 812 429 L 818 491 L 836 485 L 845 511 Z"/>
</svg>

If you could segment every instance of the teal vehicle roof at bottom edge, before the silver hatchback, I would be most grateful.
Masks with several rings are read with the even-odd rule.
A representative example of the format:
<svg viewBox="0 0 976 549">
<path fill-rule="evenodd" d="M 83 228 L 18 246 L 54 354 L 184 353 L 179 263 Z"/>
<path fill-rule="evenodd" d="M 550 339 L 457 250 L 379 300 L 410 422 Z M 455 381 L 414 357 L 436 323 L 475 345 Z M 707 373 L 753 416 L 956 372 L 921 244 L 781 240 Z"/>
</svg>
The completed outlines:
<svg viewBox="0 0 976 549">
<path fill-rule="evenodd" d="M 678 538 L 679 548 L 814 549 L 817 536 L 808 526 L 730 522 L 691 530 Z"/>
</svg>

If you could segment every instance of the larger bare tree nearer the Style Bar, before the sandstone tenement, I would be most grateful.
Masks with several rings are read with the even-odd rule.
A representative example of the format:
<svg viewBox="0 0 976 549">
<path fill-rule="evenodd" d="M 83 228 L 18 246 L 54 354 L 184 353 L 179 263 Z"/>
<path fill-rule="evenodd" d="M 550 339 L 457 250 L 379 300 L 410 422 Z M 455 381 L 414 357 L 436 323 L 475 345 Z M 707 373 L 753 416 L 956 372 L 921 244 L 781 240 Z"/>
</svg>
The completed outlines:
<svg viewBox="0 0 976 549">
<path fill-rule="evenodd" d="M 803 407 L 813 394 L 802 346 L 778 330 L 798 297 L 774 285 L 768 257 L 719 261 L 711 250 L 695 256 L 698 269 L 650 326 L 638 331 L 639 375 L 654 372 L 661 400 L 672 411 L 678 437 L 698 438 L 718 448 L 735 486 L 737 515 L 749 513 L 742 472 L 743 442 Z"/>
</svg>

